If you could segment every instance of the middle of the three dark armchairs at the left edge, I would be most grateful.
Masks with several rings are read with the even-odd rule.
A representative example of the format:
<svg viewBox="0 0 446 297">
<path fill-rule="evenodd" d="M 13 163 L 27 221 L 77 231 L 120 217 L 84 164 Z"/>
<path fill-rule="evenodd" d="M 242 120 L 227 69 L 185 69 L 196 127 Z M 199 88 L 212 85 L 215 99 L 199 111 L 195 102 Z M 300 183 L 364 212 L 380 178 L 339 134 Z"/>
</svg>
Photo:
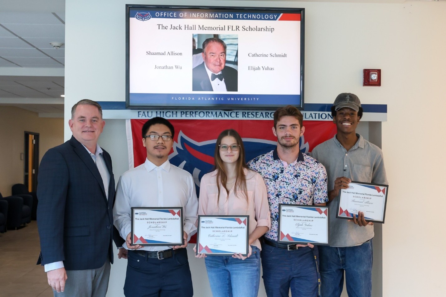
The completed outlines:
<svg viewBox="0 0 446 297">
<path fill-rule="evenodd" d="M 8 202 L 8 219 L 6 221 L 8 229 L 17 229 L 20 225 L 31 223 L 31 209 L 33 208 L 31 195 L 3 197 L 0 193 L 0 200 Z"/>
</svg>

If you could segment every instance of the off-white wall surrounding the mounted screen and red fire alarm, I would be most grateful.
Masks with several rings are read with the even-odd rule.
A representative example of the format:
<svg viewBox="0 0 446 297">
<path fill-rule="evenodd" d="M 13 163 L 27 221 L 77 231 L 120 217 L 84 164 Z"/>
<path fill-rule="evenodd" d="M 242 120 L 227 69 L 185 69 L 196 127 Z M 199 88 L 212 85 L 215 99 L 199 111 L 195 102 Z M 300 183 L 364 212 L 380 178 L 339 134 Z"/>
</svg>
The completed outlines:
<svg viewBox="0 0 446 297">
<path fill-rule="evenodd" d="M 66 120 L 79 99 L 124 101 L 126 2 L 66 0 Z M 337 94 L 349 91 L 362 103 L 388 105 L 388 121 L 382 124 L 390 182 L 382 228 L 382 296 L 444 294 L 446 236 L 441 206 L 436 204 L 445 196 L 446 3 L 151 1 L 185 3 L 306 8 L 306 103 L 331 103 Z M 362 69 L 375 67 L 382 70 L 382 86 L 362 87 Z M 127 162 L 123 123 L 107 120 L 100 140 L 112 155 L 116 178 Z M 71 133 L 65 129 L 68 139 Z M 108 296 L 122 295 L 124 263 L 112 267 Z M 194 283 L 201 285 L 195 296 L 210 296 L 200 278 L 206 280 L 194 275 Z M 375 294 L 380 289 L 374 288 Z"/>
</svg>

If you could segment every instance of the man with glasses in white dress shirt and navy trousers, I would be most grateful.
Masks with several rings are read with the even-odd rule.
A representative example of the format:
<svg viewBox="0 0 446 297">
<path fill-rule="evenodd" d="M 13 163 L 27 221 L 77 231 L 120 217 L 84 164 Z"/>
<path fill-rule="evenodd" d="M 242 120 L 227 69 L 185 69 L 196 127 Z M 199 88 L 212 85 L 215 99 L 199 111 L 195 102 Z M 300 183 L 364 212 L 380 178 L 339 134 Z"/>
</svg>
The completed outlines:
<svg viewBox="0 0 446 297">
<path fill-rule="evenodd" d="M 125 172 L 118 181 L 114 224 L 128 249 L 125 296 L 193 295 L 186 246 L 197 231 L 198 200 L 190 173 L 169 163 L 173 125 L 155 117 L 142 127 L 145 162 Z M 131 245 L 132 207 L 183 207 L 184 245 Z"/>
</svg>

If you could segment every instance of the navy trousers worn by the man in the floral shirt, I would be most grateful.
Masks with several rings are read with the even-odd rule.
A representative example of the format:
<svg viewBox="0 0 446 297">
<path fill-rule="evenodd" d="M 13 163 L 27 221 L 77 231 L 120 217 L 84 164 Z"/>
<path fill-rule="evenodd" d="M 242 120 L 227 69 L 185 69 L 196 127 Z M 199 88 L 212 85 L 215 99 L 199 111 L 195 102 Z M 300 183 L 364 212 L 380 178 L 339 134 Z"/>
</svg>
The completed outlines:
<svg viewBox="0 0 446 297">
<path fill-rule="evenodd" d="M 318 247 L 288 251 L 262 243 L 263 283 L 268 297 L 319 296 Z"/>
</svg>

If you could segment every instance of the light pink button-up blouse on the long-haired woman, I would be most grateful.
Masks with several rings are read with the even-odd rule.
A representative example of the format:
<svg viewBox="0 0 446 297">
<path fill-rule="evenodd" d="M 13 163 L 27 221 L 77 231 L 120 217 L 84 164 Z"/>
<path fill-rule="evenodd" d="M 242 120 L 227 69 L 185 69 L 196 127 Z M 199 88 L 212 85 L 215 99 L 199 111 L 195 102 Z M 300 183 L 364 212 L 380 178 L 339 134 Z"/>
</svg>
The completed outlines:
<svg viewBox="0 0 446 297">
<path fill-rule="evenodd" d="M 200 215 L 249 215 L 249 234 L 257 226 L 271 228 L 271 217 L 269 213 L 268 194 L 263 178 L 259 173 L 245 169 L 246 188 L 248 190 L 248 201 L 243 191 L 234 187 L 229 191 L 229 196 L 223 186 L 220 186 L 220 197 L 217 205 L 217 171 L 206 173 L 200 183 L 200 197 L 198 198 L 198 214 Z M 256 239 L 252 245 L 260 250 L 260 241 Z"/>
</svg>

